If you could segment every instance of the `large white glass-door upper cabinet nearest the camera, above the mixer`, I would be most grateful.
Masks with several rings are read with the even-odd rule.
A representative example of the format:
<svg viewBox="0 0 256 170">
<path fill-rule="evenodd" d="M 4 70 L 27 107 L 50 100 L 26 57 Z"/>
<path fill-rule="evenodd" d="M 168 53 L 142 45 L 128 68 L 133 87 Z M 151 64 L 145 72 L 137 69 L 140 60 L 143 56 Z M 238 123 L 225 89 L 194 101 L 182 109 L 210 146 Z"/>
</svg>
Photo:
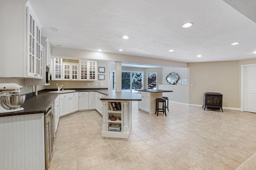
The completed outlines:
<svg viewBox="0 0 256 170">
<path fill-rule="evenodd" d="M 42 78 L 42 26 L 32 6 L 10 0 L 0 6 L 0 77 Z"/>
</svg>

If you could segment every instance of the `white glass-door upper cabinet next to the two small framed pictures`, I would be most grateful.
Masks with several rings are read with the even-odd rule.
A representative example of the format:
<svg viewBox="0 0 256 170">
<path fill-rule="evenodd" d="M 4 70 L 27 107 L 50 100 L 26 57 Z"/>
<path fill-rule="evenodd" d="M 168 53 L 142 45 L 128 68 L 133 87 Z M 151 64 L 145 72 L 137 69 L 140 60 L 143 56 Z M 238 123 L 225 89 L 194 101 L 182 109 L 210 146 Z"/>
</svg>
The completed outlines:
<svg viewBox="0 0 256 170">
<path fill-rule="evenodd" d="M 97 62 L 96 61 L 79 61 L 79 80 L 97 80 L 96 78 L 96 68 Z"/>
</svg>

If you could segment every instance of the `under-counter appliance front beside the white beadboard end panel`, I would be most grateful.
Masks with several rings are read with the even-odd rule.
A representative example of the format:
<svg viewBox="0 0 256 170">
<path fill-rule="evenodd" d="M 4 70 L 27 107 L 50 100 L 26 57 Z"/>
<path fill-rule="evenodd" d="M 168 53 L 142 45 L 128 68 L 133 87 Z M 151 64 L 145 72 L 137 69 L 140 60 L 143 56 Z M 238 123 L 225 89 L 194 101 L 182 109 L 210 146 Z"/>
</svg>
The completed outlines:
<svg viewBox="0 0 256 170">
<path fill-rule="evenodd" d="M 45 169 L 47 170 L 52 160 L 53 140 L 54 140 L 54 119 L 52 108 L 50 107 L 44 115 L 44 157 Z"/>
</svg>

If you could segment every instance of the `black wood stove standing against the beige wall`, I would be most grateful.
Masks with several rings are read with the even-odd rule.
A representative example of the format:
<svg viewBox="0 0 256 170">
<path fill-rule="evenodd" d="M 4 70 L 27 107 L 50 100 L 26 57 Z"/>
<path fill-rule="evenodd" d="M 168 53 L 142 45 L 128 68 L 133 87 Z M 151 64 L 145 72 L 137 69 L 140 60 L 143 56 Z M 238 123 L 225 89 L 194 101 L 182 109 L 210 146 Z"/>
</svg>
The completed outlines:
<svg viewBox="0 0 256 170">
<path fill-rule="evenodd" d="M 215 92 L 205 92 L 204 93 L 204 105 L 202 108 L 207 107 L 207 109 L 222 109 L 222 94 Z"/>
</svg>

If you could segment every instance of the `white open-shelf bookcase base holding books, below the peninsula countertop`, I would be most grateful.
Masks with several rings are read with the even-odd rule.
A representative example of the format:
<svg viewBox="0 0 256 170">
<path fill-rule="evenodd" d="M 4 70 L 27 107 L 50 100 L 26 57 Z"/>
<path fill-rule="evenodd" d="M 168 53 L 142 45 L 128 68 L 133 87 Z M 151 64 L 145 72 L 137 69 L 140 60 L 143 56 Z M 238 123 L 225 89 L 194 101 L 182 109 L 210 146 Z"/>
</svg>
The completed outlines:
<svg viewBox="0 0 256 170">
<path fill-rule="evenodd" d="M 121 110 L 112 110 L 111 104 L 119 102 Z M 132 102 L 131 101 L 106 101 L 102 100 L 102 137 L 128 138 L 132 126 Z M 110 120 L 110 115 L 120 117 L 121 120 Z M 120 125 L 120 131 L 109 131 L 111 124 Z"/>
</svg>

